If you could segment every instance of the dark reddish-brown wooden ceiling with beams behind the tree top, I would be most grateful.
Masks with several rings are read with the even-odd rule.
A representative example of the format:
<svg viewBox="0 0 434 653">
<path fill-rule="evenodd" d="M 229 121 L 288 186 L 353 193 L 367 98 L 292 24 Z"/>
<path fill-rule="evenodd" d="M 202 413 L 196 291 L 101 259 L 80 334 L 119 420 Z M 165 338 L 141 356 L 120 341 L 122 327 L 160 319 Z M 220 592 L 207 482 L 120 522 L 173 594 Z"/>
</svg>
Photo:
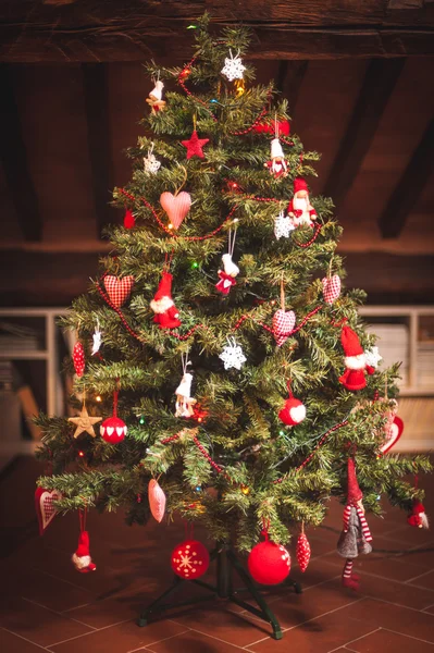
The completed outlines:
<svg viewBox="0 0 434 653">
<path fill-rule="evenodd" d="M 86 289 L 148 111 L 142 62 L 187 60 L 206 8 L 252 26 L 258 79 L 276 79 L 293 131 L 322 152 L 311 186 L 336 204 L 348 284 L 432 303 L 434 2 L 0 0 L 2 304 Z"/>
</svg>

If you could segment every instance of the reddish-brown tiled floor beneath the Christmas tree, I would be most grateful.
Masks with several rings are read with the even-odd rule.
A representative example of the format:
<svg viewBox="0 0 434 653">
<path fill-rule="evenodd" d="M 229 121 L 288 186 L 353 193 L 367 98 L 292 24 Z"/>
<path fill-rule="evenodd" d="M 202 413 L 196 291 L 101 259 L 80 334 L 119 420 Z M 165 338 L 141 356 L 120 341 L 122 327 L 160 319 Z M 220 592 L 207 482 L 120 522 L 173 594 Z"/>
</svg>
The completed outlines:
<svg viewBox="0 0 434 653">
<path fill-rule="evenodd" d="M 407 526 L 399 510 L 388 507 L 385 520 L 369 520 L 374 552 L 359 558 L 362 588 L 355 593 L 339 583 L 342 506 L 331 504 L 324 526 L 309 532 L 307 572 L 294 570 L 303 593 L 281 589 L 268 596 L 285 631 L 280 641 L 270 638 L 268 624 L 225 602 L 177 609 L 138 628 L 140 604 L 171 580 L 169 557 L 184 526 L 129 528 L 121 514 L 92 513 L 88 530 L 98 569 L 77 574 L 70 559 L 75 515 L 57 518 L 44 538 L 37 535 L 38 472 L 35 460 L 21 458 L 0 481 L 2 653 L 434 653 L 434 532 Z M 434 519 L 434 478 L 421 483 Z"/>
</svg>

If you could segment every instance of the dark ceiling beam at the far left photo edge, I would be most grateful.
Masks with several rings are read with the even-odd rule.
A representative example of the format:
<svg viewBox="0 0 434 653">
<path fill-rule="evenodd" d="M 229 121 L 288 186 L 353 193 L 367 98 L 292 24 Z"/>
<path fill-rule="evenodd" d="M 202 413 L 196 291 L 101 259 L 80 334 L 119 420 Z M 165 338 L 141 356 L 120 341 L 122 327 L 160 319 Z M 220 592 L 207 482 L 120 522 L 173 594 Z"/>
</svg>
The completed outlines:
<svg viewBox="0 0 434 653">
<path fill-rule="evenodd" d="M 0 65 L 0 158 L 25 241 L 40 241 L 42 218 L 27 163 L 13 77 L 9 65 Z"/>
</svg>

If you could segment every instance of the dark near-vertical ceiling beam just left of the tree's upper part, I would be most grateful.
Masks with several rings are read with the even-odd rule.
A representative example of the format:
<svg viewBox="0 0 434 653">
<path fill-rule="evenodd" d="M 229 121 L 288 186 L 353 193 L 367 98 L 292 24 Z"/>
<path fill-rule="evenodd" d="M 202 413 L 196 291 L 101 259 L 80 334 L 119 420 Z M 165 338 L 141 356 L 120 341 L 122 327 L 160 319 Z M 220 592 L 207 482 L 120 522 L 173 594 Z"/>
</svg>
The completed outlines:
<svg viewBox="0 0 434 653">
<path fill-rule="evenodd" d="M 107 64 L 84 63 L 82 70 L 97 236 L 101 237 L 104 227 L 115 220 L 113 208 L 109 205 L 113 186 L 113 162 Z"/>
</svg>

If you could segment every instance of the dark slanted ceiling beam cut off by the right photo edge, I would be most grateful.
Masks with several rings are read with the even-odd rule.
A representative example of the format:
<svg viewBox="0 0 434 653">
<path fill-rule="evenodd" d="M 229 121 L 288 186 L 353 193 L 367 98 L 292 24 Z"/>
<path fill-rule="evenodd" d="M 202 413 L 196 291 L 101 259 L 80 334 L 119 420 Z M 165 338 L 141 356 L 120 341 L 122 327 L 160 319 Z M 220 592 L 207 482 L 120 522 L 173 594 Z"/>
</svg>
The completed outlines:
<svg viewBox="0 0 434 653">
<path fill-rule="evenodd" d="M 426 127 L 413 156 L 380 217 L 383 238 L 397 238 L 434 170 L 434 119 Z"/>
</svg>

